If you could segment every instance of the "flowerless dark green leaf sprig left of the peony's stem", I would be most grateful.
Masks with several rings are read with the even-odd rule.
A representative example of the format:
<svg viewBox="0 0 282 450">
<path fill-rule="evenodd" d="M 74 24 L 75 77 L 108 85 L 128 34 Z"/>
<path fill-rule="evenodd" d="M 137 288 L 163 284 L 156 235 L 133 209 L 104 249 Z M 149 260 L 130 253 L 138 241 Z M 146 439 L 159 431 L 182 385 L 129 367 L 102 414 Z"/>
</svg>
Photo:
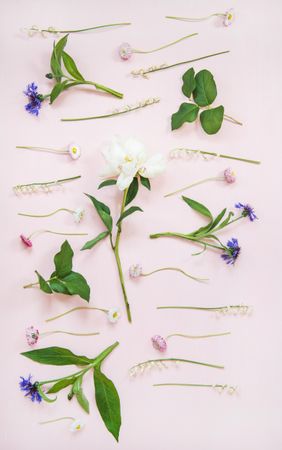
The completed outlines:
<svg viewBox="0 0 282 450">
<path fill-rule="evenodd" d="M 78 295 L 83 300 L 89 302 L 90 287 L 86 279 L 78 272 L 72 270 L 73 250 L 65 241 L 59 253 L 54 256 L 55 271 L 52 272 L 50 278 L 45 280 L 36 270 L 35 273 L 38 281 L 24 286 L 24 288 L 32 288 L 39 286 L 41 291 L 46 294 L 54 292 L 65 295 Z"/>
</svg>

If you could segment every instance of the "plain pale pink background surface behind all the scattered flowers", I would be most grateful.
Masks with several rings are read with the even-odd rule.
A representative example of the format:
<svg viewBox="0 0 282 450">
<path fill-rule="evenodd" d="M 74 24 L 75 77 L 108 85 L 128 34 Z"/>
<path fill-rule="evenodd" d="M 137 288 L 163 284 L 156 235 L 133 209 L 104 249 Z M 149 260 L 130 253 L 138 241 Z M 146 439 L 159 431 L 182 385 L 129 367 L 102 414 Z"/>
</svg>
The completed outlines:
<svg viewBox="0 0 282 450">
<path fill-rule="evenodd" d="M 18 389 L 20 375 L 34 374 L 35 379 L 54 378 L 71 373 L 73 367 L 43 366 L 20 356 L 27 351 L 25 327 L 31 324 L 44 332 L 100 331 L 89 338 L 55 335 L 42 340 L 42 347 L 59 345 L 94 357 L 115 340 L 120 346 L 104 364 L 105 373 L 114 381 L 122 403 L 123 425 L 120 448 L 123 450 L 278 450 L 281 435 L 281 304 L 280 291 L 280 203 L 275 194 L 281 188 L 280 169 L 280 80 L 281 2 L 279 0 L 239 0 L 233 3 L 236 21 L 225 28 L 217 20 L 191 24 L 169 21 L 165 15 L 201 16 L 224 12 L 226 1 L 167 0 L 86 1 L 73 0 L 1 1 L 2 151 L 0 179 L 2 193 L 2 370 L 1 375 L 1 449 L 40 448 L 85 450 L 117 448 L 94 405 L 91 376 L 85 379 L 91 414 L 86 416 L 76 401 L 71 403 L 62 391 L 54 404 L 32 404 Z M 132 26 L 96 31 L 69 37 L 68 52 L 89 79 L 124 92 L 124 100 L 77 88 L 63 94 L 53 106 L 43 105 L 40 117 L 24 111 L 22 90 L 31 81 L 41 92 L 50 90 L 44 75 L 49 70 L 52 37 L 27 37 L 20 31 L 33 24 L 79 28 L 117 21 L 131 21 Z M 117 56 L 117 46 L 124 41 L 137 48 L 158 47 L 185 34 L 199 32 L 174 47 L 150 55 L 134 55 L 130 62 Z M 170 115 L 182 101 L 181 76 L 188 66 L 152 74 L 149 80 L 134 79 L 132 69 L 163 62 L 173 63 L 208 53 L 231 50 L 229 55 L 195 63 L 196 70 L 212 71 L 218 85 L 217 104 L 225 105 L 227 114 L 242 120 L 243 127 L 225 122 L 215 136 L 207 136 L 195 124 L 170 131 Z M 61 123 L 61 117 L 103 114 L 124 104 L 159 96 L 161 102 L 147 109 L 101 121 Z M 36 229 L 86 231 L 89 239 L 103 230 L 94 209 L 83 192 L 97 195 L 118 214 L 121 196 L 115 188 L 97 193 L 99 172 L 103 167 L 100 151 L 114 135 L 135 136 L 143 141 L 148 153 L 163 152 L 177 146 L 202 148 L 237 156 L 262 159 L 261 166 L 232 163 L 238 182 L 232 186 L 210 183 L 188 191 L 192 198 L 218 213 L 232 208 L 237 201 L 256 208 L 259 221 L 235 224 L 221 233 L 226 241 L 238 237 L 242 254 L 236 267 L 228 267 L 218 253 L 206 252 L 192 257 L 195 248 L 182 241 L 151 241 L 149 233 L 188 232 L 202 224 L 201 219 L 177 197 L 163 194 L 182 184 L 216 176 L 228 165 L 224 160 L 170 161 L 167 172 L 152 182 L 152 192 L 140 189 L 134 202 L 144 209 L 124 224 L 121 258 L 133 314 L 127 323 L 111 326 L 103 314 L 78 312 L 53 324 L 44 320 L 66 309 L 85 305 L 78 297 L 53 297 L 39 290 L 23 290 L 35 280 L 34 270 L 47 276 L 52 271 L 52 257 L 63 242 L 60 236 L 41 235 L 34 247 L 26 249 L 19 241 L 21 232 Z M 82 147 L 82 157 L 74 162 L 68 157 L 17 150 L 16 145 L 63 147 L 71 141 Z M 279 160 L 280 158 L 280 160 Z M 82 179 L 54 191 L 16 197 L 12 186 L 32 181 L 64 178 L 81 174 Z M 45 213 L 59 207 L 86 209 L 80 225 L 61 213 L 49 219 L 29 219 L 17 212 Z M 274 235 L 274 236 L 273 236 Z M 275 237 L 275 241 L 274 238 Z M 122 306 L 122 296 L 113 255 L 108 242 L 95 250 L 79 252 L 85 237 L 70 237 L 75 250 L 75 269 L 83 273 L 92 288 L 91 305 Z M 280 245 L 279 245 L 280 246 Z M 178 266 L 188 272 L 207 276 L 210 282 L 198 284 L 177 273 L 160 273 L 133 282 L 127 268 L 140 262 L 144 271 L 164 266 Z M 254 306 L 252 316 L 216 318 L 210 313 L 157 311 L 158 305 L 182 304 L 218 306 L 247 303 Z M 173 332 L 201 334 L 232 331 L 231 336 L 210 340 L 171 340 L 167 356 L 223 363 L 225 370 L 181 365 L 169 370 L 152 370 L 130 379 L 128 369 L 135 363 L 159 354 L 151 347 L 150 337 Z M 40 346 L 39 346 L 40 347 Z M 229 383 L 239 385 L 234 396 L 194 388 L 154 388 L 153 383 Z M 83 418 L 85 429 L 76 435 L 68 423 L 39 426 L 38 422 L 64 415 Z"/>
</svg>

